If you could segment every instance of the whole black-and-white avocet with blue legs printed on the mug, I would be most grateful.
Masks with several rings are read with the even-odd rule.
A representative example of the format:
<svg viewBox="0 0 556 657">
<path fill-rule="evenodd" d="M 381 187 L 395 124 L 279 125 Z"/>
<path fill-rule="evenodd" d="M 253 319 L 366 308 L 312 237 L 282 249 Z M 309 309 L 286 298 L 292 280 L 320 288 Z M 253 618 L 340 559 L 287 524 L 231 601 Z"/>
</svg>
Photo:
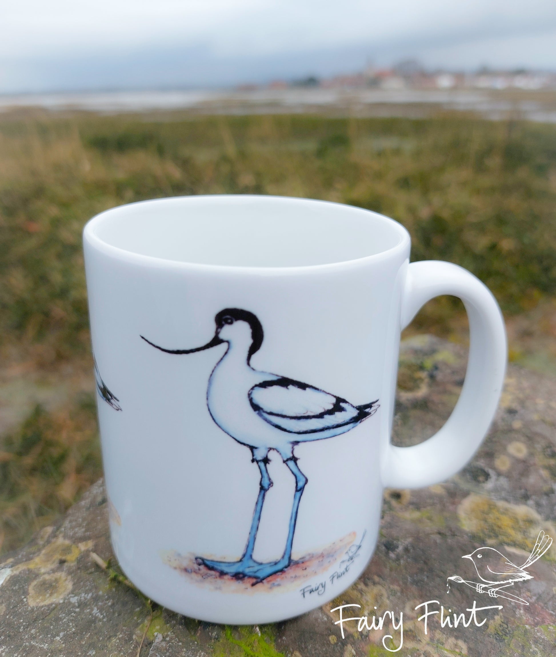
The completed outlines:
<svg viewBox="0 0 556 657">
<path fill-rule="evenodd" d="M 254 585 L 291 564 L 297 510 L 307 484 L 307 477 L 299 469 L 293 453 L 295 445 L 345 434 L 377 411 L 378 400 L 353 406 L 307 383 L 253 369 L 249 362 L 263 344 L 263 327 L 257 316 L 247 310 L 221 310 L 215 323 L 212 340 L 194 349 L 164 349 L 144 336 L 141 338 L 160 351 L 173 354 L 203 351 L 223 342 L 228 344 L 209 378 L 207 406 L 212 419 L 228 436 L 251 449 L 253 461 L 261 472 L 261 484 L 242 558 L 215 561 L 198 557 L 198 562 L 238 579 L 255 578 Z M 295 477 L 295 494 L 284 554 L 277 561 L 261 563 L 253 559 L 253 549 L 265 495 L 272 486 L 267 470 L 271 449 L 280 454 Z"/>
</svg>

